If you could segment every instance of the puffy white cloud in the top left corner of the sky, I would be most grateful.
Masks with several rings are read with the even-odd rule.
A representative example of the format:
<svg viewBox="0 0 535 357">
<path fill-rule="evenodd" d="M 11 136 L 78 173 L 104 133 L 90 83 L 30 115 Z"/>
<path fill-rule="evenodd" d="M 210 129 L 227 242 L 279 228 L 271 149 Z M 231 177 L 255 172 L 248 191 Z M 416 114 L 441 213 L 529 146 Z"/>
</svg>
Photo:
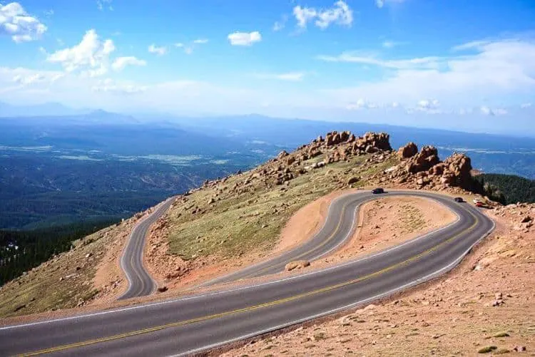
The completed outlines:
<svg viewBox="0 0 535 357">
<path fill-rule="evenodd" d="M 0 4 L 0 35 L 11 36 L 15 42 L 34 41 L 46 32 L 39 19 L 26 13 L 21 4 Z"/>
</svg>

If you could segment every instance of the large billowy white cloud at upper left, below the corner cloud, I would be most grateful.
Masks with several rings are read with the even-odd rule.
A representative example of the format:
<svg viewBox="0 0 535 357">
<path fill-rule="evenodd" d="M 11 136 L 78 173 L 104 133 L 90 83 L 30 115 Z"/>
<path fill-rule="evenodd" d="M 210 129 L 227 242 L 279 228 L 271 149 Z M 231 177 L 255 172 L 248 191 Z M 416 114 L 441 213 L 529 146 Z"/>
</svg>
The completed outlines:
<svg viewBox="0 0 535 357">
<path fill-rule="evenodd" d="M 56 51 L 46 58 L 51 63 L 60 63 L 67 72 L 86 70 L 88 76 L 102 76 L 108 71 L 110 54 L 115 51 L 111 39 L 101 41 L 95 30 L 83 36 L 78 45 Z"/>
</svg>

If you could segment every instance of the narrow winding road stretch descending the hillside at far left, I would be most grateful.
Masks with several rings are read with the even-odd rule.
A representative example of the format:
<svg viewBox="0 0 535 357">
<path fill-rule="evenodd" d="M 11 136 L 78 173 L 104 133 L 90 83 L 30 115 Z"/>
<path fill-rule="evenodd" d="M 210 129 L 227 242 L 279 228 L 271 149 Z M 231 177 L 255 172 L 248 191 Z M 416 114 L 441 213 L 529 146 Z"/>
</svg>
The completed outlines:
<svg viewBox="0 0 535 357">
<path fill-rule="evenodd" d="M 150 295 L 156 290 L 156 282 L 143 266 L 143 247 L 145 247 L 145 237 L 151 224 L 156 222 L 172 203 L 173 197 L 165 200 L 132 229 L 128 244 L 121 256 L 121 269 L 128 279 L 128 289 L 118 298 L 119 300 Z"/>
</svg>

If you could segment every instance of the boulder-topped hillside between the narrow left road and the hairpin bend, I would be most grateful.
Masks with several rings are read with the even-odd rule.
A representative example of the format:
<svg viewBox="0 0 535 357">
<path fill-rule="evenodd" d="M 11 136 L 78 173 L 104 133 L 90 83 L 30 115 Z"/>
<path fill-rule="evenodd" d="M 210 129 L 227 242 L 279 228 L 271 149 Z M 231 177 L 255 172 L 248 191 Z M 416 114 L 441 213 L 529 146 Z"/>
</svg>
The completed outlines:
<svg viewBox="0 0 535 357">
<path fill-rule="evenodd" d="M 471 169 L 469 157 L 442 162 L 429 146 L 394 151 L 386 133 L 327 133 L 178 197 L 155 225 L 146 259 L 160 284 L 182 288 L 267 256 L 290 217 L 331 192 L 380 185 L 459 193 L 471 187 Z"/>
</svg>

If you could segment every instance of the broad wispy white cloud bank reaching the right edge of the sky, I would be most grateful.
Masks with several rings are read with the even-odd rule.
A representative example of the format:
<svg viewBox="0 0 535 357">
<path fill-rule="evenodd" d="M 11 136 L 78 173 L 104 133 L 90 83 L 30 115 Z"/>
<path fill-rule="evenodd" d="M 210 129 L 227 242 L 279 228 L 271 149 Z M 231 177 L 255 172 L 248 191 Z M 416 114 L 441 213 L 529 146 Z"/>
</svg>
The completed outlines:
<svg viewBox="0 0 535 357">
<path fill-rule="evenodd" d="M 519 38 L 487 42 L 475 53 L 459 56 L 383 59 L 342 53 L 320 56 L 324 61 L 349 62 L 384 68 L 382 76 L 356 86 L 321 90 L 332 103 L 368 98 L 379 103 L 417 103 L 437 98 L 444 108 L 501 103 L 503 98 L 526 98 L 535 93 L 535 41 Z M 516 105 L 520 105 L 517 103 Z"/>
</svg>

